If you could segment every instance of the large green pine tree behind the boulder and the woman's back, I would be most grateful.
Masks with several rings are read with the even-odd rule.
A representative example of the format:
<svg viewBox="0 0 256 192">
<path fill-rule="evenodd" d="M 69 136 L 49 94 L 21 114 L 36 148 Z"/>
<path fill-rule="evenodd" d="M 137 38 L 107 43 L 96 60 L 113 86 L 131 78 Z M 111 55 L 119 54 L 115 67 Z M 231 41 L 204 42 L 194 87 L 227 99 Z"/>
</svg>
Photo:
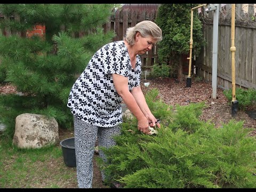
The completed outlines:
<svg viewBox="0 0 256 192">
<path fill-rule="evenodd" d="M 0 81 L 17 86 L 22 94 L 0 95 L 1 119 L 7 135 L 14 133 L 15 117 L 22 113 L 54 117 L 62 128 L 73 127 L 67 107 L 76 78 L 95 51 L 113 39 L 105 33 L 113 4 L 0 4 L 5 17 L 0 35 Z M 46 37 L 20 37 L 34 25 L 44 25 Z M 79 37 L 79 32 L 83 36 Z"/>
</svg>

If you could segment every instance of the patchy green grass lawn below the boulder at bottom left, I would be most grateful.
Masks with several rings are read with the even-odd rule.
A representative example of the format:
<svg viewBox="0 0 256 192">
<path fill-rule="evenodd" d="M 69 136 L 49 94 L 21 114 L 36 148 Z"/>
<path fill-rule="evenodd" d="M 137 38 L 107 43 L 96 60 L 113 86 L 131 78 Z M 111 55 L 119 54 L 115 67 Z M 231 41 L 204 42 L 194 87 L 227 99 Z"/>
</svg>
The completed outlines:
<svg viewBox="0 0 256 192">
<path fill-rule="evenodd" d="M 19 149 L 2 137 L 0 188 L 77 188 L 76 167 L 65 165 L 59 145 Z"/>
</svg>

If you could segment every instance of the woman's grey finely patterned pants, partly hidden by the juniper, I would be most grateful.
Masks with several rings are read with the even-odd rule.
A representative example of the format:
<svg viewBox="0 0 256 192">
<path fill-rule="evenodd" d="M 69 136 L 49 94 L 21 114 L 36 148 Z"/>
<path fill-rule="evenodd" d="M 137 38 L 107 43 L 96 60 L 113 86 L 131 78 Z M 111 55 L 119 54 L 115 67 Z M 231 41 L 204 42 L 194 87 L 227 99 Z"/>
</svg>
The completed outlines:
<svg viewBox="0 0 256 192">
<path fill-rule="evenodd" d="M 99 127 L 74 116 L 75 130 L 75 152 L 76 152 L 76 169 L 77 182 L 79 188 L 92 188 L 93 178 L 93 154 L 95 141 L 98 137 L 99 146 L 111 147 L 116 143 L 111 136 L 121 133 L 120 126 L 114 127 Z M 107 161 L 105 155 L 99 150 L 99 156 L 103 161 Z M 102 180 L 105 179 L 105 174 L 101 171 Z"/>
</svg>

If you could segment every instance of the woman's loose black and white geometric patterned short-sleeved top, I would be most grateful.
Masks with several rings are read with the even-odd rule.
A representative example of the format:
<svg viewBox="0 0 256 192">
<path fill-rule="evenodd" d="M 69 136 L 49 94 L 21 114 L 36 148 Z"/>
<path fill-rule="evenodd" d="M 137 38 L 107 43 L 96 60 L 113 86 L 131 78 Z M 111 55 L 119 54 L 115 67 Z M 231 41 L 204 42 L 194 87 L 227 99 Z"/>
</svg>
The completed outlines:
<svg viewBox="0 0 256 192">
<path fill-rule="evenodd" d="M 75 117 L 101 127 L 122 123 L 122 98 L 115 89 L 111 74 L 127 77 L 130 91 L 140 85 L 140 56 L 137 55 L 135 70 L 132 69 L 124 41 L 102 46 L 74 83 L 67 106 Z"/>
</svg>

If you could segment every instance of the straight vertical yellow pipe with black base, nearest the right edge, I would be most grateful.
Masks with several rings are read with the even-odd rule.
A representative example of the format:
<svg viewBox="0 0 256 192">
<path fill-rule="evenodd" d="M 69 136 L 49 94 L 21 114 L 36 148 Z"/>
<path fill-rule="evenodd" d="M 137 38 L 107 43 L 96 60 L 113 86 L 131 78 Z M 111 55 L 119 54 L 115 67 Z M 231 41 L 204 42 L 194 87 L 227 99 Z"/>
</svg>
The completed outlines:
<svg viewBox="0 0 256 192">
<path fill-rule="evenodd" d="M 235 16 L 236 16 L 236 4 L 231 6 L 231 72 L 232 72 L 232 106 L 231 115 L 237 116 L 238 101 L 236 100 L 236 75 L 235 75 Z"/>
</svg>

